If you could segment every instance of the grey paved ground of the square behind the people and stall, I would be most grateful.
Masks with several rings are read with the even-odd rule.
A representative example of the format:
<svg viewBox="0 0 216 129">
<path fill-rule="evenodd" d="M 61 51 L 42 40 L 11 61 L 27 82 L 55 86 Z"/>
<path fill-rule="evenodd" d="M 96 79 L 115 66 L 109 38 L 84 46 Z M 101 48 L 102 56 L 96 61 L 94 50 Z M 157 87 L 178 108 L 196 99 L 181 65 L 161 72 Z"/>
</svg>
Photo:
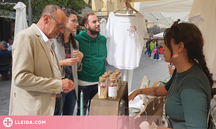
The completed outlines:
<svg viewBox="0 0 216 129">
<path fill-rule="evenodd" d="M 157 80 L 163 81 L 169 77 L 168 63 L 164 61 L 163 55 L 160 55 L 160 61 L 154 61 L 149 59 L 147 55 L 142 53 L 140 66 L 134 69 L 133 81 L 131 90 L 138 89 L 140 87 L 143 76 L 147 76 L 150 80 L 150 86 Z M 115 71 L 116 68 L 107 65 L 107 70 Z M 122 71 L 123 73 L 123 71 Z M 5 81 L 0 78 L 0 115 L 8 115 L 9 98 L 10 98 L 10 84 L 11 81 Z M 215 100 L 212 100 L 212 106 L 216 105 Z M 216 110 L 213 110 L 215 114 L 213 117 L 216 120 Z"/>
</svg>

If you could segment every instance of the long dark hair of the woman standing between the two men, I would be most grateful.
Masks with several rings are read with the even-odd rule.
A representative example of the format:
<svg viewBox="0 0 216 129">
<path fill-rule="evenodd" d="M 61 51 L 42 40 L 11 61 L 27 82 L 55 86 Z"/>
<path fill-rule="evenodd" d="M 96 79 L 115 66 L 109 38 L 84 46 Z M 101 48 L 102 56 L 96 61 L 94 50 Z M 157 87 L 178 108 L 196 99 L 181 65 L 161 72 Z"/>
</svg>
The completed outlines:
<svg viewBox="0 0 216 129">
<path fill-rule="evenodd" d="M 71 14 L 76 14 L 76 12 L 72 9 L 63 9 L 63 11 L 65 12 L 66 16 L 67 17 L 70 17 Z M 59 35 L 57 36 L 56 40 L 61 44 L 61 45 L 65 45 L 64 43 L 64 34 L 63 33 L 59 33 Z M 78 49 L 78 46 L 76 44 L 76 40 L 75 38 L 73 37 L 72 33 L 70 33 L 70 39 L 69 39 L 70 43 L 72 44 L 72 47 L 74 49 Z"/>
</svg>

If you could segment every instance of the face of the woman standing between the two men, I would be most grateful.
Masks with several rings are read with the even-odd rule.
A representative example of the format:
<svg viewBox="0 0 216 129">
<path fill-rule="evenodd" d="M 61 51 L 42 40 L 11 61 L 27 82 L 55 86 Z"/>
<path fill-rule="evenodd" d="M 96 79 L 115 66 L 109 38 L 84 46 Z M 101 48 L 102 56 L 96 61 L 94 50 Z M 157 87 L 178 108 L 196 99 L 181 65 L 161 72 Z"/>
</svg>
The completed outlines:
<svg viewBox="0 0 216 129">
<path fill-rule="evenodd" d="M 66 28 L 70 31 L 70 33 L 72 33 L 76 32 L 77 26 L 79 26 L 77 16 L 75 14 L 71 14 L 67 19 Z"/>
</svg>

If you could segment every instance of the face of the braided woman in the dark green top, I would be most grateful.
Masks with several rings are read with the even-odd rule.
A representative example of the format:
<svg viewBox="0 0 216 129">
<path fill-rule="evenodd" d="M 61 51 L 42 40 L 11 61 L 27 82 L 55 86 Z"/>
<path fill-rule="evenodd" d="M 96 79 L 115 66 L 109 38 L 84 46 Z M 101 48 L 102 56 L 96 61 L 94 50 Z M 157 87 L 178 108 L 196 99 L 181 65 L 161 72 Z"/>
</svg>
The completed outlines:
<svg viewBox="0 0 216 129">
<path fill-rule="evenodd" d="M 164 51 L 164 58 L 166 62 L 173 63 L 173 61 L 177 59 L 176 57 L 178 57 L 178 47 L 179 45 L 178 44 L 176 45 L 174 39 L 171 38 L 171 49 L 173 51 L 173 55 L 171 57 L 171 51 L 166 45 L 164 45 L 163 51 Z"/>
</svg>

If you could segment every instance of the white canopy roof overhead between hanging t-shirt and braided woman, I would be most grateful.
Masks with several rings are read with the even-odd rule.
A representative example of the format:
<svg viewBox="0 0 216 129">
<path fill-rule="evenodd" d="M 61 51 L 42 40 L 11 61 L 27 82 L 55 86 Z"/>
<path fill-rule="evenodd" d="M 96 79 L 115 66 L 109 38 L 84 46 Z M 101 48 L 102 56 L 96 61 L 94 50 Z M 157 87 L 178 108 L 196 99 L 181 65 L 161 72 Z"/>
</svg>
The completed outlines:
<svg viewBox="0 0 216 129">
<path fill-rule="evenodd" d="M 145 1 L 135 2 L 134 8 L 142 13 L 145 19 L 169 27 L 177 19 L 188 22 L 192 4 L 193 0 Z"/>
</svg>

